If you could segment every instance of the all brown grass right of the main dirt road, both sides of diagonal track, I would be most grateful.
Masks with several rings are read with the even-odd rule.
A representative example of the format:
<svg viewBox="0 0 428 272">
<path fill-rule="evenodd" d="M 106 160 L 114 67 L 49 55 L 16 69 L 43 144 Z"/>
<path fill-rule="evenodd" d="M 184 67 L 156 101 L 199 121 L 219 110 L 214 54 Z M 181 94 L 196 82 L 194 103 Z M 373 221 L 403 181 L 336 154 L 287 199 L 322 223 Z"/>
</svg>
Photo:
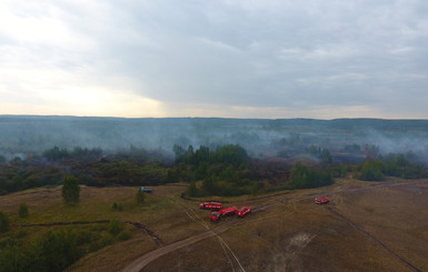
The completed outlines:
<svg viewBox="0 0 428 272">
<path fill-rule="evenodd" d="M 402 180 L 397 179 L 392 182 Z M 371 184 L 379 183 L 340 180 L 330 188 L 301 190 L 285 197 L 292 200 L 307 194 L 322 194 L 322 191 L 339 192 Z M 344 212 L 397 254 L 425 271 L 427 266 L 424 263 L 428 261 L 426 256 L 428 232 L 424 226 L 427 225 L 425 220 L 428 219 L 428 214 L 426 211 L 419 213 L 418 211 L 427 206 L 427 195 L 420 194 L 425 190 L 420 189 L 420 185 L 417 185 L 419 191 L 415 191 L 412 187 L 374 188 L 334 194 L 331 199 L 335 204 L 330 206 Z M 392 192 L 397 194 L 389 195 Z M 419 194 L 420 200 L 412 202 L 411 193 Z M 259 201 L 258 204 L 281 200 L 285 197 Z M 390 197 L 396 199 L 396 204 L 388 204 L 387 200 Z M 414 204 L 411 209 L 408 201 Z M 350 216 L 351 214 L 354 216 Z M 397 220 L 401 223 L 396 224 Z M 415 221 L 419 223 L 414 224 Z M 410 225 L 412 228 L 409 230 Z M 380 233 L 382 231 L 384 233 Z M 389 239 L 390 235 L 395 239 Z M 311 199 L 282 203 L 253 213 L 220 236 L 247 271 L 408 271 L 408 268 L 388 251 L 342 219 L 331 214 L 325 206 L 315 205 Z M 417 241 L 418 239 L 422 240 Z M 411 252 L 405 253 L 399 249 L 408 249 Z M 203 263 L 200 260 L 203 260 Z M 145 271 L 233 270 L 240 271 L 239 264 L 230 252 L 223 251 L 217 239 L 205 240 L 167 254 L 145 269 Z"/>
</svg>

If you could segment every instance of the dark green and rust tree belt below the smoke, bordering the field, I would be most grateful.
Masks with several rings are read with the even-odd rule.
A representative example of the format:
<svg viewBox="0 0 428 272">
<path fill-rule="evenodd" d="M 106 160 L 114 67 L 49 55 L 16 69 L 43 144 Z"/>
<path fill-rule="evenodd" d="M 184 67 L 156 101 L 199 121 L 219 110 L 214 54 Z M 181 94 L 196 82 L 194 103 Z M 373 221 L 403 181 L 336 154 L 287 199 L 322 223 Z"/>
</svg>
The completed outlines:
<svg viewBox="0 0 428 272">
<path fill-rule="evenodd" d="M 311 159 L 256 159 L 239 144 L 217 149 L 176 144 L 175 159 L 131 147 L 110 153 L 101 149 L 53 147 L 39 155 L 0 163 L 0 194 L 30 188 L 60 185 L 73 175 L 88 187 L 159 185 L 189 183 L 189 197 L 259 194 L 276 190 L 316 188 L 352 173 L 360 180 L 386 177 L 427 178 L 427 169 L 412 153 L 367 155 L 364 162 L 334 163 L 330 151 L 310 145 Z M 369 153 L 371 154 L 371 153 Z M 313 158 L 315 159 L 313 159 Z"/>
</svg>

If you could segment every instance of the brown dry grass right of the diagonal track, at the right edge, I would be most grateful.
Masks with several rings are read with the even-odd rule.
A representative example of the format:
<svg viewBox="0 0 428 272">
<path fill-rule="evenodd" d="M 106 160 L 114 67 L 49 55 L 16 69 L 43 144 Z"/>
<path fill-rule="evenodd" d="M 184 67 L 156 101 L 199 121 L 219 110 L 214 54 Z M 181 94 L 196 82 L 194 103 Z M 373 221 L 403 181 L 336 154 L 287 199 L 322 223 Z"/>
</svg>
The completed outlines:
<svg viewBox="0 0 428 272">
<path fill-rule="evenodd" d="M 344 194 L 337 209 L 397 254 L 422 271 L 428 270 L 428 187 L 379 188 Z"/>
</svg>

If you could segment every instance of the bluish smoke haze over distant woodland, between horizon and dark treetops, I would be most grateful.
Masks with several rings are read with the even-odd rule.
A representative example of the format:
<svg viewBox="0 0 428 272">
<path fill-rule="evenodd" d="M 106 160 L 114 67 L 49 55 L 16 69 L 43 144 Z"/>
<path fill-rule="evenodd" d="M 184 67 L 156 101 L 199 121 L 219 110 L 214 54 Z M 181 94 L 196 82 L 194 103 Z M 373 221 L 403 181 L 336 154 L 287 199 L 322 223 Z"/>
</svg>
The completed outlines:
<svg viewBox="0 0 428 272">
<path fill-rule="evenodd" d="M 41 153 L 54 145 L 100 148 L 104 152 L 130 147 L 172 155 L 173 144 L 185 149 L 216 149 L 240 144 L 253 157 L 303 154 L 317 145 L 342 152 L 347 144 L 376 145 L 381 153 L 412 151 L 428 158 L 428 121 L 424 120 L 258 120 L 219 118 L 122 119 L 0 115 L 0 155 L 7 160 Z M 316 159 L 316 158 L 315 158 Z"/>
</svg>

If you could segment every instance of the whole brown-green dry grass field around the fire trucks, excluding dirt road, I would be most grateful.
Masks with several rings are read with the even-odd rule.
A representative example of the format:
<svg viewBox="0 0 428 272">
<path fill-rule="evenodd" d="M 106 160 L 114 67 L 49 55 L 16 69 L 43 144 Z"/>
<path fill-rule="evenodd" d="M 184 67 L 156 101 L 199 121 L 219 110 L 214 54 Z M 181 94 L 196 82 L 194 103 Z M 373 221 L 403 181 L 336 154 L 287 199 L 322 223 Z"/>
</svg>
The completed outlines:
<svg viewBox="0 0 428 272">
<path fill-rule="evenodd" d="M 390 252 L 428 271 L 428 181 L 407 182 L 341 179 L 326 188 L 223 199 L 228 206 L 266 209 L 239 219 L 219 235 L 156 259 L 143 271 L 411 271 Z M 68 269 L 120 271 L 159 246 L 236 220 L 210 223 L 209 211 L 180 198 L 183 190 L 182 184 L 157 187 L 140 206 L 135 201 L 137 188 L 82 187 L 80 203 L 67 206 L 60 188 L 34 189 L 0 197 L 0 210 L 10 214 L 13 225 L 111 219 L 143 224 L 161 240 L 161 245 L 143 230 L 127 224 L 131 239 L 91 252 Z M 331 203 L 316 205 L 313 195 L 318 194 L 328 195 Z M 29 205 L 27 219 L 17 215 L 21 202 Z M 113 211 L 113 202 L 121 203 L 123 211 Z M 30 241 L 34 233 L 50 228 L 12 226 L 0 238 L 17 236 L 24 230 L 22 239 Z"/>
</svg>

